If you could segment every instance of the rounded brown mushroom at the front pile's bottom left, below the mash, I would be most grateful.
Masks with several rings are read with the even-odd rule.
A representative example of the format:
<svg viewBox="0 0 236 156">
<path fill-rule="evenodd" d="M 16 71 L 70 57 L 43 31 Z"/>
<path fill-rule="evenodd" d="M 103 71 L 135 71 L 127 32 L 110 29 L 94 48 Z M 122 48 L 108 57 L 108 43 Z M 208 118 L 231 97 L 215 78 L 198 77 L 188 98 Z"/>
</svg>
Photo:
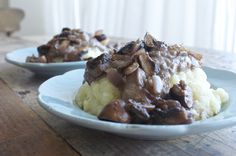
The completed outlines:
<svg viewBox="0 0 236 156">
<path fill-rule="evenodd" d="M 101 113 L 98 115 L 98 119 L 130 123 L 130 115 L 125 109 L 126 103 L 122 100 L 115 100 L 106 105 Z"/>
</svg>

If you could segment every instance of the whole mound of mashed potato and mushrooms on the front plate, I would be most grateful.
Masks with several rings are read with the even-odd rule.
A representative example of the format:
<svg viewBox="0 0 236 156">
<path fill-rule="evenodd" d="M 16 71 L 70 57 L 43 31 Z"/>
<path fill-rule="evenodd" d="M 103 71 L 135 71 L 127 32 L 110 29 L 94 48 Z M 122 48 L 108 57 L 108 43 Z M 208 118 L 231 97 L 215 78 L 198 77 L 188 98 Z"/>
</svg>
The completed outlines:
<svg viewBox="0 0 236 156">
<path fill-rule="evenodd" d="M 134 124 L 189 124 L 220 112 L 229 99 L 214 89 L 202 56 L 150 34 L 89 60 L 76 103 L 100 120 Z"/>
</svg>

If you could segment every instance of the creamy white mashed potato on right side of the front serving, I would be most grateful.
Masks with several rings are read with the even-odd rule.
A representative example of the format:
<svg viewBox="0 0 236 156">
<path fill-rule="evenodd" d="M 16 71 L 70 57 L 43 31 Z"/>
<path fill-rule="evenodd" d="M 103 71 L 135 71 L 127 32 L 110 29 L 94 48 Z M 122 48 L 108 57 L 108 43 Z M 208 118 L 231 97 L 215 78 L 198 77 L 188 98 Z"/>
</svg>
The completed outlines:
<svg viewBox="0 0 236 156">
<path fill-rule="evenodd" d="M 192 113 L 195 120 L 206 119 L 219 113 L 221 105 L 228 101 L 229 95 L 222 88 L 212 89 L 207 76 L 201 68 L 175 74 L 170 79 L 171 86 L 184 80 L 192 89 L 194 105 Z"/>
</svg>

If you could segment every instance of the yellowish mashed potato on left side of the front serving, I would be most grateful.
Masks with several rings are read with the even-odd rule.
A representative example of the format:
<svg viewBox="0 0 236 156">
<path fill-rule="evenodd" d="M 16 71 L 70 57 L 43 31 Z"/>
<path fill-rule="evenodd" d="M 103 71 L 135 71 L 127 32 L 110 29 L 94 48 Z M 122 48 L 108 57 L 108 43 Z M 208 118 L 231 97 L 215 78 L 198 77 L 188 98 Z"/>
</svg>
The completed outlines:
<svg viewBox="0 0 236 156">
<path fill-rule="evenodd" d="M 114 99 L 120 98 L 120 91 L 111 82 L 102 78 L 89 85 L 84 83 L 75 97 L 75 102 L 84 111 L 98 115 L 105 105 Z"/>
</svg>

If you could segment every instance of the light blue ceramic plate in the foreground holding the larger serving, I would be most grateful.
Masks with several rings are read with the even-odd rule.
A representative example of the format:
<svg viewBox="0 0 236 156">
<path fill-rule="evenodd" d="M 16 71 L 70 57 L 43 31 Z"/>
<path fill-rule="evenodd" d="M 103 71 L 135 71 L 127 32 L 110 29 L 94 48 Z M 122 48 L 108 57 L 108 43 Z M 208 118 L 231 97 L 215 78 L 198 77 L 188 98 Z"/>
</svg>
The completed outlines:
<svg viewBox="0 0 236 156">
<path fill-rule="evenodd" d="M 98 120 L 95 116 L 81 110 L 73 102 L 75 94 L 83 82 L 83 69 L 73 70 L 44 82 L 39 87 L 38 100 L 40 105 L 49 112 L 80 126 L 139 139 L 172 139 L 235 125 L 236 74 L 207 67 L 204 70 L 208 75 L 208 80 L 214 86 L 222 87 L 229 93 L 230 101 L 215 117 L 189 125 L 139 125 Z"/>
</svg>

